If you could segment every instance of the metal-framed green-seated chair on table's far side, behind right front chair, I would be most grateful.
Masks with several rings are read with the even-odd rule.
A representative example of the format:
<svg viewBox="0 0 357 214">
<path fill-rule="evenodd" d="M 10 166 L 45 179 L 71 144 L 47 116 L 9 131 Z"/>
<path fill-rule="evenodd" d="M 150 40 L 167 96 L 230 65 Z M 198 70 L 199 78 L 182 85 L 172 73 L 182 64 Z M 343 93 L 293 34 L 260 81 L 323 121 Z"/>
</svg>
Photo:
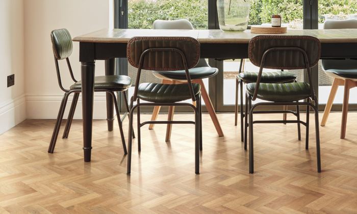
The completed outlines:
<svg viewBox="0 0 357 214">
<path fill-rule="evenodd" d="M 238 123 L 238 91 L 240 88 L 240 118 L 241 118 L 241 141 L 243 142 L 244 140 L 246 141 L 246 132 L 244 133 L 244 125 L 243 125 L 243 119 L 246 116 L 246 114 L 243 112 L 243 83 L 244 84 L 249 84 L 249 83 L 256 83 L 257 78 L 258 78 L 258 72 L 249 72 L 249 71 L 244 71 L 244 63 L 245 59 L 241 59 L 240 66 L 239 66 L 239 71 L 238 75 L 236 76 L 236 103 L 235 103 L 235 123 L 234 125 L 237 125 Z M 272 72 L 263 72 L 261 76 L 261 83 L 292 83 L 296 79 L 296 75 L 288 72 L 288 71 L 272 71 Z M 299 114 L 298 106 L 297 108 L 297 114 Z M 284 111 L 287 111 L 288 108 L 286 105 L 283 107 Z M 284 113 L 283 115 L 283 120 L 286 120 L 287 114 Z M 300 140 L 300 124 L 298 124 L 298 138 Z"/>
</svg>

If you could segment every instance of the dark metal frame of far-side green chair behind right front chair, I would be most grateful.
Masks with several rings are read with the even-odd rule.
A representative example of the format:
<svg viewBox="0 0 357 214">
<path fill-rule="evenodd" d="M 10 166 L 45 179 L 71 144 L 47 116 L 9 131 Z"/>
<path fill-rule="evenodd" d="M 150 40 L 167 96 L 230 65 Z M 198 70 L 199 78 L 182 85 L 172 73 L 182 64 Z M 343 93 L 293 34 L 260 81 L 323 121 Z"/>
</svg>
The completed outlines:
<svg viewBox="0 0 357 214">
<path fill-rule="evenodd" d="M 240 66 L 239 66 L 239 71 L 238 73 L 241 73 L 242 72 L 242 65 L 243 65 L 243 59 L 241 59 L 241 62 L 240 62 Z M 282 71 L 284 71 L 282 69 Z M 296 82 L 296 79 L 295 81 L 293 82 Z M 245 112 L 243 112 L 243 83 L 244 81 L 239 77 L 239 75 L 236 77 L 236 103 L 235 103 L 235 122 L 234 122 L 234 125 L 237 126 L 237 123 L 238 123 L 238 91 L 239 91 L 239 88 L 240 88 L 240 116 L 241 116 L 241 141 L 244 142 L 245 144 L 247 143 L 247 138 L 246 138 L 246 135 L 247 135 L 247 132 L 245 131 L 244 132 L 244 117 L 245 117 Z M 287 82 L 282 82 L 282 83 L 292 83 L 291 81 L 287 81 Z M 239 87 L 238 87 L 239 86 Z M 285 107 L 286 105 L 284 105 Z M 276 112 L 276 113 L 283 113 L 284 114 L 284 120 L 286 120 L 286 111 L 287 110 L 284 110 L 284 111 L 280 111 L 280 112 Z M 254 112 L 253 114 L 264 114 L 264 112 Z M 289 113 L 293 113 L 295 115 L 295 112 L 293 111 L 289 111 Z M 300 113 L 299 113 L 299 105 L 296 105 L 296 116 L 297 118 L 299 118 L 300 116 Z M 299 120 L 299 119 L 298 119 Z M 284 123 L 286 124 L 286 123 Z M 299 141 L 301 140 L 301 133 L 300 133 L 300 124 L 298 123 L 297 124 L 297 132 L 298 132 L 298 139 Z"/>
</svg>

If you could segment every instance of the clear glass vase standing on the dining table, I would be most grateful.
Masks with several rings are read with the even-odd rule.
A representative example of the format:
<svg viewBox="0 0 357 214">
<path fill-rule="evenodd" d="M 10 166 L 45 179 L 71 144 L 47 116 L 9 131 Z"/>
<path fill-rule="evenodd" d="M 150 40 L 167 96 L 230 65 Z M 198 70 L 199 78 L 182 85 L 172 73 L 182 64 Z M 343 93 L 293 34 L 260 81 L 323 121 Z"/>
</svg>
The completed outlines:
<svg viewBox="0 0 357 214">
<path fill-rule="evenodd" d="M 219 28 L 222 31 L 247 30 L 249 0 L 217 0 Z"/>
</svg>

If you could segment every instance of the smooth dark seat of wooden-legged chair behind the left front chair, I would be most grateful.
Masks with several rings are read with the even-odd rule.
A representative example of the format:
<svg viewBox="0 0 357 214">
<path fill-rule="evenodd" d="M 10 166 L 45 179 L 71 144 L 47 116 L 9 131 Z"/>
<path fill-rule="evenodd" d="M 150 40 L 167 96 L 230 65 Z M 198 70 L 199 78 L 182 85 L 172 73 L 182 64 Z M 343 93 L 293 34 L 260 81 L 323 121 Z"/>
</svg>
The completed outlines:
<svg viewBox="0 0 357 214">
<path fill-rule="evenodd" d="M 203 79 L 214 76 L 218 73 L 217 68 L 211 67 L 198 67 L 189 69 L 191 79 Z M 166 77 L 167 79 L 174 80 L 187 80 L 185 70 L 179 71 L 152 71 L 152 73 L 160 74 Z"/>
</svg>

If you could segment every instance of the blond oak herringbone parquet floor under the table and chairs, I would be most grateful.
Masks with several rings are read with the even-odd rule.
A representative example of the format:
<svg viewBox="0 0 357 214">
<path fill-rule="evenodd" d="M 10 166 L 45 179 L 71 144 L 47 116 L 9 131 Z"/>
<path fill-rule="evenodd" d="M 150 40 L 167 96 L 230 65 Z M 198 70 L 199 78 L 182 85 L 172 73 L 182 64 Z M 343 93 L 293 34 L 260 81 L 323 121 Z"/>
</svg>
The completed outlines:
<svg viewBox="0 0 357 214">
<path fill-rule="evenodd" d="M 25 120 L 0 136 L 0 213 L 357 213 L 357 113 L 348 114 L 345 139 L 340 113 L 320 126 L 322 173 L 313 116 L 309 150 L 304 128 L 298 141 L 295 124 L 254 124 L 254 174 L 234 115 L 217 116 L 225 137 L 203 115 L 200 175 L 194 174 L 193 125 L 175 124 L 170 142 L 166 125 L 144 126 L 142 150 L 134 140 L 126 175 L 118 127 L 107 131 L 106 120 L 93 121 L 90 163 L 83 161 L 81 120 L 73 121 L 68 139 L 58 139 L 54 154 L 47 147 L 55 120 Z M 274 117 L 280 116 L 254 115 Z"/>
</svg>

